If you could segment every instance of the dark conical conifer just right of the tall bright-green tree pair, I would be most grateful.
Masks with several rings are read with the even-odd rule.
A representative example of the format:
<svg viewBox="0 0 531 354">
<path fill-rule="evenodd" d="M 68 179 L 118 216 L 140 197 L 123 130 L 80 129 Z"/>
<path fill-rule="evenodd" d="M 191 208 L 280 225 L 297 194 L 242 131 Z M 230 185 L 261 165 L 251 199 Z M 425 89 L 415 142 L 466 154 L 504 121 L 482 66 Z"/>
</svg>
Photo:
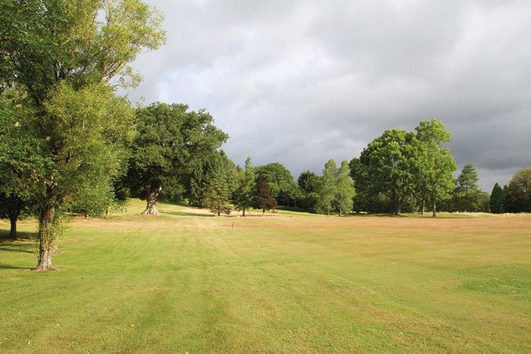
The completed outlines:
<svg viewBox="0 0 531 354">
<path fill-rule="evenodd" d="M 476 212 L 481 210 L 479 200 L 479 177 L 473 164 L 464 165 L 455 182 L 453 204 L 455 211 Z"/>
</svg>

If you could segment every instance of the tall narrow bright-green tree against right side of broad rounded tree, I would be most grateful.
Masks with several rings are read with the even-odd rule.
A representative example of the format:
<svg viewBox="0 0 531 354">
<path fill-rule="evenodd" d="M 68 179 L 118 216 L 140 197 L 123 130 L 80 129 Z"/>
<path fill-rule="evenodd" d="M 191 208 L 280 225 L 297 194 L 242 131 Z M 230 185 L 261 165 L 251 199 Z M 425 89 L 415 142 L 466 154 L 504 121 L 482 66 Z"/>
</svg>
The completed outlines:
<svg viewBox="0 0 531 354">
<path fill-rule="evenodd" d="M 457 169 L 457 164 L 450 155 L 450 149 L 443 149 L 452 135 L 436 119 L 430 122 L 421 120 L 415 130 L 417 139 L 424 144 L 424 149 L 419 154 L 421 168 L 416 175 L 418 190 L 421 192 L 421 210 L 424 214 L 426 198 L 429 198 L 433 217 L 436 217 L 438 200 L 448 198 L 455 188 L 453 172 Z"/>
</svg>

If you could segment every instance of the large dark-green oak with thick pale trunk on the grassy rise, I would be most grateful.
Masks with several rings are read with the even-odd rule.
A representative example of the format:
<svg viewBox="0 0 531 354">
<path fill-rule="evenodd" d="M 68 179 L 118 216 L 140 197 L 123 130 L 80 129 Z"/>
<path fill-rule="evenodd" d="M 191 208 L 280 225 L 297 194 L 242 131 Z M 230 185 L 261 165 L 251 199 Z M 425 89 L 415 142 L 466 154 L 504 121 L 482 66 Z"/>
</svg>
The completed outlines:
<svg viewBox="0 0 531 354">
<path fill-rule="evenodd" d="M 179 181 L 193 161 L 212 158 L 227 140 L 212 124 L 210 113 L 187 110 L 188 105 L 166 103 L 137 110 L 138 134 L 131 145 L 128 178 L 135 194 L 147 201 L 143 214 L 160 215 L 156 210 L 159 196 L 171 198 L 181 191 Z M 161 194 L 163 187 L 165 194 Z"/>
</svg>

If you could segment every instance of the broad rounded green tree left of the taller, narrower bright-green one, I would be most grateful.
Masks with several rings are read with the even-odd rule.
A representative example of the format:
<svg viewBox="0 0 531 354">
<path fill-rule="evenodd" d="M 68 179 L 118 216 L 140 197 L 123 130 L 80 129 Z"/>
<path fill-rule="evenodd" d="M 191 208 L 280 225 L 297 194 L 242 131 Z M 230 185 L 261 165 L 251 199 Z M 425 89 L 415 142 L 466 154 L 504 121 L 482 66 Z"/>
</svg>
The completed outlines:
<svg viewBox="0 0 531 354">
<path fill-rule="evenodd" d="M 350 161 L 356 190 L 387 195 L 400 215 L 404 202 L 415 191 L 423 149 L 413 132 L 386 130 L 363 149 L 360 159 Z"/>
</svg>

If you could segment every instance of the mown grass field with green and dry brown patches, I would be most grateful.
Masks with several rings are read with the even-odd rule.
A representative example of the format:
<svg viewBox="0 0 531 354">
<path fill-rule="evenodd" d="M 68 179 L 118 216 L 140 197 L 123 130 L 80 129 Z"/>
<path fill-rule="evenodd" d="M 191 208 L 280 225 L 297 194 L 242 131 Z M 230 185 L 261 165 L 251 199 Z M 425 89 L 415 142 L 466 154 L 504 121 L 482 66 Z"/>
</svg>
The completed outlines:
<svg viewBox="0 0 531 354">
<path fill-rule="evenodd" d="M 1 352 L 531 351 L 531 215 L 142 207 L 74 219 L 56 272 L 0 239 Z"/>
</svg>

